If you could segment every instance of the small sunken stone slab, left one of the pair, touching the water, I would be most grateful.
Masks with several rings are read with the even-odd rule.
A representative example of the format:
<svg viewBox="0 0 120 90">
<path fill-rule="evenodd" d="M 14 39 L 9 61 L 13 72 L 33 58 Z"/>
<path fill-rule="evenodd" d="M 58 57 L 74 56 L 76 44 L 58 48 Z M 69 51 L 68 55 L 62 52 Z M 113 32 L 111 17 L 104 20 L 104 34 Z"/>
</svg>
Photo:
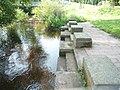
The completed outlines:
<svg viewBox="0 0 120 90">
<path fill-rule="evenodd" d="M 58 58 L 57 71 L 67 71 L 65 57 Z"/>
</svg>

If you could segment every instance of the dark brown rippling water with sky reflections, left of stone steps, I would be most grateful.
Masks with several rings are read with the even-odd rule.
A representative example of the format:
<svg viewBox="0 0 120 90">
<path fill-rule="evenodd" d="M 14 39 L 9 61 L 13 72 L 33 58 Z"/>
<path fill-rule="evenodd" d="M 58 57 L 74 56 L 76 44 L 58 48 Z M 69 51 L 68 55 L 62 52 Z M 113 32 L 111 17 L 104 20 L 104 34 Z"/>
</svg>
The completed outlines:
<svg viewBox="0 0 120 90">
<path fill-rule="evenodd" d="M 59 32 L 41 24 L 0 29 L 0 90 L 53 90 Z"/>
</svg>

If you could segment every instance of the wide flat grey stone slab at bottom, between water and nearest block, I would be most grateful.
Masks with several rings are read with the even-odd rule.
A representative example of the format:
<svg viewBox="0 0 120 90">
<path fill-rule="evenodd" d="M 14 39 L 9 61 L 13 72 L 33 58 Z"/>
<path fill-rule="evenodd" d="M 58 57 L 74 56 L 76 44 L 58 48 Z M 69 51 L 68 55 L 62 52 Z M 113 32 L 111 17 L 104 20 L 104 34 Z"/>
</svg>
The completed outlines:
<svg viewBox="0 0 120 90">
<path fill-rule="evenodd" d="M 56 72 L 55 90 L 81 87 L 80 76 L 76 72 Z"/>
</svg>

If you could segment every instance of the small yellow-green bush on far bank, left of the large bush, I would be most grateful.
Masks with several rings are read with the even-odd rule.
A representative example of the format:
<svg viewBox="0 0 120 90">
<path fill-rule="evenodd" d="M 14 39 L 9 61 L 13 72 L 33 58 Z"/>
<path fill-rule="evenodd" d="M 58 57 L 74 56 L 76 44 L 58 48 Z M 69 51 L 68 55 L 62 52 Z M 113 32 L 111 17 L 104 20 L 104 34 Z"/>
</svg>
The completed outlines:
<svg viewBox="0 0 120 90">
<path fill-rule="evenodd" d="M 29 18 L 28 14 L 24 13 L 21 9 L 16 9 L 16 22 L 26 22 Z"/>
</svg>

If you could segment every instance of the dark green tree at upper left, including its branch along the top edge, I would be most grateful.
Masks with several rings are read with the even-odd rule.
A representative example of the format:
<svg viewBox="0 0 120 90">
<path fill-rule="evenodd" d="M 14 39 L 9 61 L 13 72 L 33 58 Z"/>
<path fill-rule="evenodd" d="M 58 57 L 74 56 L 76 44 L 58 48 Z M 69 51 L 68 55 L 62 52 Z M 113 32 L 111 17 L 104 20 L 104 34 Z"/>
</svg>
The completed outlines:
<svg viewBox="0 0 120 90">
<path fill-rule="evenodd" d="M 30 3 L 31 0 L 0 0 L 0 26 L 5 26 L 14 21 L 16 3 Z"/>
</svg>

